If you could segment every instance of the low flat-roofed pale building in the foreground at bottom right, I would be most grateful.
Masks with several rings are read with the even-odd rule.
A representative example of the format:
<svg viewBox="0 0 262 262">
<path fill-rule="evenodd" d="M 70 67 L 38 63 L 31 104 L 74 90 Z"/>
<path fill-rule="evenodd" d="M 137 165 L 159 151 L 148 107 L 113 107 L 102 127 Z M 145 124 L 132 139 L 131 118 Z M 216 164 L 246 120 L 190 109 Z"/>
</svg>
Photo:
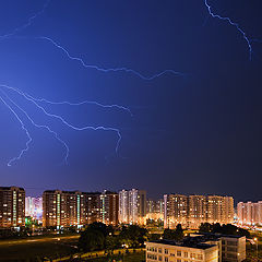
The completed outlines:
<svg viewBox="0 0 262 262">
<path fill-rule="evenodd" d="M 246 259 L 246 237 L 193 234 L 180 242 L 146 242 L 146 262 L 241 262 Z"/>
</svg>

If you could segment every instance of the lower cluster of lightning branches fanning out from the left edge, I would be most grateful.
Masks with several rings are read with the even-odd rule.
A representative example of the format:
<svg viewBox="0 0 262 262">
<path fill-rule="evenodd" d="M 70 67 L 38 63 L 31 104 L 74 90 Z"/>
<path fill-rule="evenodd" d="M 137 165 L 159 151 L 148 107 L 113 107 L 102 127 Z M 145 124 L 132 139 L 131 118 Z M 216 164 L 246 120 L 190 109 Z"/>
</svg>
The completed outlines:
<svg viewBox="0 0 262 262">
<path fill-rule="evenodd" d="M 64 163 L 68 163 L 68 157 L 69 157 L 69 146 L 67 145 L 67 143 L 61 140 L 58 135 L 57 132 L 55 132 L 53 130 L 51 130 L 48 126 L 44 126 L 44 124 L 38 124 L 36 123 L 31 117 L 23 109 L 21 108 L 13 99 L 11 99 L 7 93 L 3 91 L 3 90 L 8 90 L 8 91 L 13 91 L 15 92 L 16 94 L 19 94 L 20 96 L 22 96 L 23 98 L 25 98 L 27 102 L 32 103 L 35 107 L 37 107 L 39 110 L 41 110 L 41 112 L 44 112 L 45 116 L 47 117 L 50 117 L 50 118 L 55 118 L 57 120 L 60 120 L 66 127 L 72 129 L 72 130 L 75 130 L 75 131 L 85 131 L 85 130 L 93 130 L 93 131 L 98 131 L 98 130 L 102 130 L 102 131 L 112 131 L 115 133 L 117 133 L 118 135 L 118 140 L 117 140 L 117 143 L 116 143 L 116 154 L 118 153 L 119 151 L 119 146 L 120 146 L 120 142 L 121 142 L 121 133 L 120 133 L 120 130 L 117 129 L 117 128 L 111 128 L 111 127 L 104 127 L 104 126 L 98 126 L 98 127 L 93 127 L 93 126 L 84 126 L 84 127 L 76 127 L 70 122 L 68 122 L 64 118 L 62 118 L 61 116 L 59 115 L 56 115 L 56 114 L 51 114 L 51 112 L 48 112 L 43 106 L 40 106 L 37 102 L 47 102 L 49 104 L 52 104 L 52 105 L 61 105 L 61 104 L 67 104 L 67 105 L 81 105 L 81 104 L 86 104 L 90 102 L 82 102 L 82 103 L 78 103 L 78 104 L 73 104 L 73 103 L 70 103 L 70 102 L 61 102 L 61 103 L 56 103 L 56 102 L 50 102 L 50 100 L 46 100 L 46 99 L 38 99 L 38 98 L 34 98 L 33 96 L 31 95 L 27 95 L 26 93 L 20 91 L 19 88 L 15 88 L 15 87 L 12 87 L 12 86 L 9 86 L 9 85 L 3 85 L 1 84 L 0 85 L 1 87 L 1 93 L 4 94 L 4 96 L 17 108 L 20 109 L 25 116 L 26 118 L 31 121 L 31 123 L 36 127 L 36 128 L 44 128 L 46 130 L 48 130 L 51 134 L 55 135 L 55 138 L 63 144 L 63 146 L 66 147 L 66 156 L 64 156 Z M 11 164 L 15 160 L 19 160 L 21 159 L 21 157 L 24 155 L 24 153 L 26 151 L 28 151 L 29 148 L 29 143 L 32 142 L 32 136 L 29 135 L 29 132 L 28 130 L 25 128 L 25 124 L 24 122 L 22 121 L 22 119 L 17 116 L 17 114 L 12 109 L 12 107 L 9 106 L 9 104 L 5 103 L 5 100 L 0 96 L 2 103 L 13 112 L 13 115 L 16 117 L 16 119 L 20 121 L 21 126 L 22 126 L 22 129 L 26 131 L 26 134 L 28 136 L 28 141 L 26 142 L 26 148 L 25 150 L 22 150 L 21 153 L 19 154 L 17 157 L 14 157 L 12 158 L 10 162 L 9 162 L 9 166 L 11 166 Z M 103 107 L 117 107 L 117 108 L 120 108 L 120 109 L 124 109 L 127 110 L 128 112 L 131 114 L 132 116 L 132 112 L 130 109 L 126 108 L 126 107 L 122 107 L 122 106 L 118 106 L 118 105 L 103 105 L 103 104 L 98 104 L 98 103 L 95 103 L 95 105 L 99 105 L 99 106 L 103 106 Z"/>
</svg>

